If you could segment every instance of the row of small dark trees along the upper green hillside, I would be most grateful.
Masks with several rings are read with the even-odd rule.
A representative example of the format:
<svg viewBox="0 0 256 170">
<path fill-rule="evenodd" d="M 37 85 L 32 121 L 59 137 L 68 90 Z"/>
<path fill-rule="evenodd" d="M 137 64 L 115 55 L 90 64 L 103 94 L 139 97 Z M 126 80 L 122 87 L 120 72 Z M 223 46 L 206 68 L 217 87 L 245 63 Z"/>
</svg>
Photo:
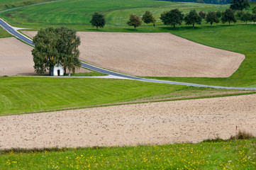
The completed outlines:
<svg viewBox="0 0 256 170">
<path fill-rule="evenodd" d="M 203 11 L 200 11 L 199 13 L 196 13 L 196 11 L 193 9 L 189 11 L 187 15 L 184 15 L 182 11 L 179 11 L 179 9 L 172 9 L 171 11 L 166 11 L 161 14 L 160 20 L 162 23 L 164 23 L 166 26 L 173 26 L 174 29 L 177 25 L 182 25 L 182 22 L 185 21 L 186 25 L 191 25 L 194 28 L 195 24 L 201 24 L 202 19 L 206 20 L 206 23 L 210 23 L 211 26 L 213 23 L 219 23 L 222 21 L 223 23 L 228 22 L 230 23 L 236 23 L 237 19 L 235 17 L 235 11 L 237 13 L 236 16 L 238 16 L 238 19 L 241 21 L 253 21 L 255 22 L 256 18 L 256 7 L 252 8 L 252 13 L 250 12 L 243 12 L 243 9 L 247 9 L 250 7 L 250 3 L 248 0 L 232 0 L 230 8 L 226 9 L 226 11 L 210 11 L 208 13 L 204 13 Z M 142 23 L 146 23 L 148 26 L 148 23 L 153 23 L 153 26 L 155 27 L 155 17 L 152 16 L 152 13 L 150 11 L 145 11 L 143 14 L 143 17 L 140 18 L 140 16 L 136 15 L 130 15 L 130 18 L 127 22 L 128 26 L 133 26 L 136 30 L 137 27 L 141 26 Z M 92 26 L 96 26 L 97 30 L 99 27 L 103 28 L 106 23 L 106 19 L 102 14 L 94 13 L 94 15 L 91 18 L 90 21 Z"/>
</svg>

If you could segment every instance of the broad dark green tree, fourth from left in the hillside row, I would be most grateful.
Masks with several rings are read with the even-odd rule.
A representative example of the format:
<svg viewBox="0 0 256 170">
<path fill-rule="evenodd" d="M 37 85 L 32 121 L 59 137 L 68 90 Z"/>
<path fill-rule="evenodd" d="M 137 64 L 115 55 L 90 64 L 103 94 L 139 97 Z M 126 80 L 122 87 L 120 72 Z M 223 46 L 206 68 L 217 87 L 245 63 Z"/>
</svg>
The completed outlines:
<svg viewBox="0 0 256 170">
<path fill-rule="evenodd" d="M 182 25 L 184 14 L 179 9 L 172 9 L 171 11 L 164 12 L 161 14 L 160 19 L 166 26 L 173 26 L 175 29 L 176 25 Z"/>
</svg>

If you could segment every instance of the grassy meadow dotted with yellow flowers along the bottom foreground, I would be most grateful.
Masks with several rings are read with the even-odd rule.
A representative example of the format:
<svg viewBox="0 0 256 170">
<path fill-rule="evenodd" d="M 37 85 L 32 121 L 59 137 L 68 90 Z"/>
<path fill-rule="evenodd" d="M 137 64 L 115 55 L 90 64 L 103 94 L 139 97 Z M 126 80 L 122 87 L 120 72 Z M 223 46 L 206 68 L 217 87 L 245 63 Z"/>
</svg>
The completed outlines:
<svg viewBox="0 0 256 170">
<path fill-rule="evenodd" d="M 256 140 L 9 152 L 1 169 L 256 169 Z"/>
</svg>

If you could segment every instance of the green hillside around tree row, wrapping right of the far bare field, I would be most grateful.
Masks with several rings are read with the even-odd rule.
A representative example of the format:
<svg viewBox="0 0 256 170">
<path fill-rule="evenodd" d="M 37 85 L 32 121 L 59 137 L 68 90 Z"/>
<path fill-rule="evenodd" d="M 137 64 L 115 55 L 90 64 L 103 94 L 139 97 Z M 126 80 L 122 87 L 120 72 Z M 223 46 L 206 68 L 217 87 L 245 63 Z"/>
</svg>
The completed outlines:
<svg viewBox="0 0 256 170">
<path fill-rule="evenodd" d="M 252 4 L 254 6 L 255 4 Z M 41 6 L 31 6 L 27 8 L 17 9 L 1 14 L 14 26 L 39 28 L 42 26 L 60 26 L 66 25 L 77 28 L 78 30 L 95 30 L 89 26 L 91 13 L 100 11 L 106 14 L 107 25 L 104 31 L 124 31 L 134 32 L 133 28 L 126 26 L 126 20 L 130 13 L 142 15 L 144 11 L 150 10 L 159 18 L 162 11 L 167 11 L 170 8 L 179 8 L 187 13 L 191 8 L 196 8 L 197 11 L 223 11 L 228 8 L 226 6 L 212 4 L 191 4 L 191 3 L 172 3 L 167 1 L 127 1 L 124 0 L 108 0 L 108 1 L 61 1 L 53 4 L 45 4 Z M 48 19 L 45 19 L 48 18 Z M 255 73 L 255 26 L 232 26 L 226 27 L 223 25 L 209 28 L 203 23 L 192 30 L 189 26 L 179 27 L 177 30 L 172 30 L 170 27 L 162 26 L 160 20 L 157 20 L 157 28 L 152 26 L 142 26 L 137 32 L 171 32 L 175 35 L 182 36 L 189 40 L 218 47 L 225 50 L 240 52 L 246 55 L 246 60 L 241 65 L 238 72 L 233 74 L 228 79 L 207 79 L 207 78 L 157 78 L 169 79 L 173 81 L 187 81 L 198 84 L 211 84 L 222 86 L 250 86 L 256 84 Z"/>
</svg>

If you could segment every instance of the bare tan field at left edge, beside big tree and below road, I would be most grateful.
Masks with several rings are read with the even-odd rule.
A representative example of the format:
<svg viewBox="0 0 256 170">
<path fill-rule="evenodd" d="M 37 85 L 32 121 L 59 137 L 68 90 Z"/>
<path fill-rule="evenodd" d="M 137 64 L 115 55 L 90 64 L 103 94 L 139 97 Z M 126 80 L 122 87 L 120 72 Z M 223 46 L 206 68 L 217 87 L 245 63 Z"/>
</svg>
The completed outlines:
<svg viewBox="0 0 256 170">
<path fill-rule="evenodd" d="M 33 47 L 16 38 L 0 38 L 0 75 L 38 75 L 34 72 Z M 90 72 L 79 69 L 78 72 Z"/>
</svg>

